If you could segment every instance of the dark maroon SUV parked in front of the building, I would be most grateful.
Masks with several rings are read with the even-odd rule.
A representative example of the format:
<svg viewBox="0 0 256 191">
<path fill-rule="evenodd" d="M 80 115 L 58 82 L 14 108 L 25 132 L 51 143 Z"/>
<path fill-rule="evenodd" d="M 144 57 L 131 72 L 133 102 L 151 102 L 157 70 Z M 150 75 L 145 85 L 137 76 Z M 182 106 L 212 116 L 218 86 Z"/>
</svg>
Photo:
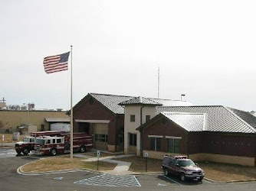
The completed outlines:
<svg viewBox="0 0 256 191">
<path fill-rule="evenodd" d="M 171 173 L 173 175 L 179 176 L 182 181 L 202 181 L 205 176 L 204 170 L 198 167 L 197 164 L 193 162 L 193 160 L 188 159 L 186 156 L 163 157 L 162 170 L 164 170 L 166 176 Z"/>
</svg>

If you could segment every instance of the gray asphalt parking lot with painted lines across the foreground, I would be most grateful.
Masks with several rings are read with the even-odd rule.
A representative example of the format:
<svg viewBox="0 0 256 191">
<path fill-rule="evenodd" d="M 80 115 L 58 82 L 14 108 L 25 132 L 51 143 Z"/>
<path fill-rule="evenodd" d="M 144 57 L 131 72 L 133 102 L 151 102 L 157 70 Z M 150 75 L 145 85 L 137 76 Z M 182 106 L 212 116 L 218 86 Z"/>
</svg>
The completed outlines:
<svg viewBox="0 0 256 191">
<path fill-rule="evenodd" d="M 256 183 L 202 183 L 182 182 L 179 178 L 163 174 L 114 176 L 87 170 L 71 170 L 41 175 L 21 175 L 18 167 L 40 157 L 16 155 L 0 149 L 1 190 L 255 190 Z"/>
</svg>

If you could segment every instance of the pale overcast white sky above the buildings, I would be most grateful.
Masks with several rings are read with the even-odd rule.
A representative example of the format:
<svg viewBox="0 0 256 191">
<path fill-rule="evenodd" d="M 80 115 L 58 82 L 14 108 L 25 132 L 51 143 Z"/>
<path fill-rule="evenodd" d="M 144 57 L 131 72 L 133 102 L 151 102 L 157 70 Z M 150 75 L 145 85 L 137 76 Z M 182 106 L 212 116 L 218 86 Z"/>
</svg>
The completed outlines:
<svg viewBox="0 0 256 191">
<path fill-rule="evenodd" d="M 67 71 L 43 59 L 73 44 L 73 103 L 88 92 L 256 110 L 256 1 L 0 2 L 0 98 L 69 108 Z"/>
</svg>

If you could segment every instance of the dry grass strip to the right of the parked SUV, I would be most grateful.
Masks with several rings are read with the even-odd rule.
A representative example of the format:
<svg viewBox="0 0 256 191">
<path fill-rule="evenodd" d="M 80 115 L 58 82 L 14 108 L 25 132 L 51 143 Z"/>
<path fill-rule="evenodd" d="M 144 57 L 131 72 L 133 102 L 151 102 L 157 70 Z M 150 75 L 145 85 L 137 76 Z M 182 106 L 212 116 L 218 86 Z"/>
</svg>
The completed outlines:
<svg viewBox="0 0 256 191">
<path fill-rule="evenodd" d="M 206 178 L 215 181 L 256 179 L 256 167 L 213 162 L 199 162 L 199 166 L 205 171 Z"/>
</svg>

